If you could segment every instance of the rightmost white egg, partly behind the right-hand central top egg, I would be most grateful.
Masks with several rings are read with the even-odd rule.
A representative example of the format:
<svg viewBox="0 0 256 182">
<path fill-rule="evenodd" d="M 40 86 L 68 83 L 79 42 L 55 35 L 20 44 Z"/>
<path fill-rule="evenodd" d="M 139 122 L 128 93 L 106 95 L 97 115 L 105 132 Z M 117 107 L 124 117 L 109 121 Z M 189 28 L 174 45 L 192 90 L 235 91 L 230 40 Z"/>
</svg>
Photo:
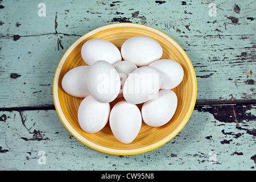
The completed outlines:
<svg viewBox="0 0 256 182">
<path fill-rule="evenodd" d="M 150 66 L 158 69 L 161 73 L 162 85 L 160 89 L 173 89 L 183 80 L 183 68 L 174 60 L 157 60 L 151 63 Z"/>
</svg>

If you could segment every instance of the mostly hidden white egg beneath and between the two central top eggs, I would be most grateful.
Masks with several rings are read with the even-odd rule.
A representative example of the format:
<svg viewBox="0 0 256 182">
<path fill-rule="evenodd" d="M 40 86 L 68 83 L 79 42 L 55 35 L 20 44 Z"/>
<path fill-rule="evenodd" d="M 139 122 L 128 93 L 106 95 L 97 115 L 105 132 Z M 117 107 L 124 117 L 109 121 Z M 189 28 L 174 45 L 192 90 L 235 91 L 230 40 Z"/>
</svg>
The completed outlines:
<svg viewBox="0 0 256 182">
<path fill-rule="evenodd" d="M 132 63 L 131 61 L 119 61 L 118 63 L 114 64 L 114 68 L 117 70 L 120 80 L 121 80 L 121 88 L 117 98 L 123 97 L 122 90 L 123 84 L 125 84 L 126 78 L 129 76 L 131 72 L 137 69 L 137 66 Z"/>
</svg>

